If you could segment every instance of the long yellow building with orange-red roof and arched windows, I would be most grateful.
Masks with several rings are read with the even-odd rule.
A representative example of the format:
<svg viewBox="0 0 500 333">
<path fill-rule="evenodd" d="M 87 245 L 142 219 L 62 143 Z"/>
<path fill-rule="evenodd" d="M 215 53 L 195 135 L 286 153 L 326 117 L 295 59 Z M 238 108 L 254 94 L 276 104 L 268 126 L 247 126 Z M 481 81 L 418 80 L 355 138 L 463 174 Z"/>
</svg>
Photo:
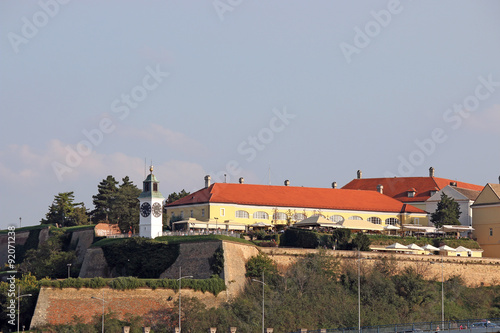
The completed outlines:
<svg viewBox="0 0 500 333">
<path fill-rule="evenodd" d="M 208 177 L 208 176 L 207 176 Z M 283 227 L 313 215 L 332 222 L 364 220 L 398 226 L 427 213 L 376 191 L 214 183 L 166 206 L 169 218 L 208 222 L 206 228 Z M 192 220 L 194 221 L 194 220 Z"/>
</svg>

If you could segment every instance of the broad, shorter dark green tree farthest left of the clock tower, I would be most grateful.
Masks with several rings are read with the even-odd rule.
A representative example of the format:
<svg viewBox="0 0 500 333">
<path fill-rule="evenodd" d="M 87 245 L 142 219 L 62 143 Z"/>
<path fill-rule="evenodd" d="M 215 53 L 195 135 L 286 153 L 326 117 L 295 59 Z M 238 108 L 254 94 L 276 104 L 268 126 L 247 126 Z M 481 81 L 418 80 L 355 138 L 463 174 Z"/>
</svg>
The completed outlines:
<svg viewBox="0 0 500 333">
<path fill-rule="evenodd" d="M 87 209 L 83 202 L 75 203 L 74 192 L 62 192 L 54 196 L 49 212 L 41 224 L 59 224 L 63 227 L 88 224 Z"/>
</svg>

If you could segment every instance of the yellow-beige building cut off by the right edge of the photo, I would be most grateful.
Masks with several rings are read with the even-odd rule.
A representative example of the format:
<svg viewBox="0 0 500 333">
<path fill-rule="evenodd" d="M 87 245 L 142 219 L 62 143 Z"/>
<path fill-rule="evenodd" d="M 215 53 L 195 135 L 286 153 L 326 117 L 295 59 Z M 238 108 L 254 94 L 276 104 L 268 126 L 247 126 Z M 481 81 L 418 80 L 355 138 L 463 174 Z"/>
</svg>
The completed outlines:
<svg viewBox="0 0 500 333">
<path fill-rule="evenodd" d="M 500 184 L 486 184 L 472 205 L 474 238 L 483 257 L 500 258 Z"/>
</svg>

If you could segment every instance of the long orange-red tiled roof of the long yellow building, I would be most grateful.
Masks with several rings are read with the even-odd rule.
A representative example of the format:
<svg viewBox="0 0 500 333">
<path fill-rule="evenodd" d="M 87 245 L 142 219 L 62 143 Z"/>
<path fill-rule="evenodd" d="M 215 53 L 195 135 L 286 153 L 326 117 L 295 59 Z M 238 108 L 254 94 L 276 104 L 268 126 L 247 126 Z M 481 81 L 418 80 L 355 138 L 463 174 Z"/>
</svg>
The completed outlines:
<svg viewBox="0 0 500 333">
<path fill-rule="evenodd" d="M 228 183 L 212 184 L 208 188 L 168 204 L 167 207 L 207 202 L 271 207 L 425 213 L 419 208 L 404 205 L 400 201 L 376 191 Z"/>
</svg>

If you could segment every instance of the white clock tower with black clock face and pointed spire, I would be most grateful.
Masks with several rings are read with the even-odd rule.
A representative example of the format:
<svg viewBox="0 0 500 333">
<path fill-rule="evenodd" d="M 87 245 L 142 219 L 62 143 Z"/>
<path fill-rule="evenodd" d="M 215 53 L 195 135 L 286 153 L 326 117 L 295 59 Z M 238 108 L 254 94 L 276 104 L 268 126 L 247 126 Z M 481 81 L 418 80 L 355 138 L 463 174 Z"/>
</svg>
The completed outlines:
<svg viewBox="0 0 500 333">
<path fill-rule="evenodd" d="M 159 191 L 159 181 L 153 175 L 153 166 L 150 174 L 142 182 L 142 193 L 139 195 L 140 221 L 139 235 L 146 238 L 155 238 L 163 233 L 163 200 Z"/>
</svg>

